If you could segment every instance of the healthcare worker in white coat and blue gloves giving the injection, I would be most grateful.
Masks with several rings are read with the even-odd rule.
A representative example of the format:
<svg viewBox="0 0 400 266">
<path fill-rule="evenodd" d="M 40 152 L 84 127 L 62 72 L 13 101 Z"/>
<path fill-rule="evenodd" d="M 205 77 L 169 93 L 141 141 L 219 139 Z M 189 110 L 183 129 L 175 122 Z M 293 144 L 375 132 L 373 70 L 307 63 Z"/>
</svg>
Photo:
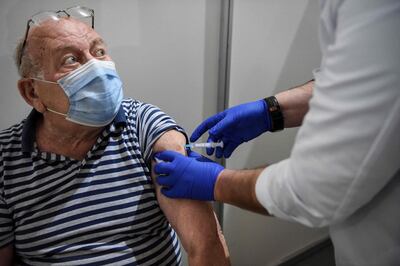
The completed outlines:
<svg viewBox="0 0 400 266">
<path fill-rule="evenodd" d="M 329 226 L 337 265 L 400 265 L 400 1 L 320 3 L 315 83 L 229 108 L 191 137 L 208 131 L 224 143 L 217 157 L 229 157 L 264 132 L 301 124 L 290 157 L 229 170 L 194 152 L 164 151 L 158 183 L 168 197 Z"/>
</svg>

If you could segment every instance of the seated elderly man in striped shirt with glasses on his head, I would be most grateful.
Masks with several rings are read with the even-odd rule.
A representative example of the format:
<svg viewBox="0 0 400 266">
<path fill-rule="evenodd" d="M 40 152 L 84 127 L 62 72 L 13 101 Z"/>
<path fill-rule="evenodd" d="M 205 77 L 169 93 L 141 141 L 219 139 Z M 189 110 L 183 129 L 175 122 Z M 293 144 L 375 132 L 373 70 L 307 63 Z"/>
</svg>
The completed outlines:
<svg viewBox="0 0 400 266">
<path fill-rule="evenodd" d="M 154 187 L 153 154 L 185 135 L 122 100 L 92 10 L 35 15 L 16 61 L 33 110 L 0 133 L 0 265 L 178 265 L 177 235 L 191 265 L 229 264 L 212 207 Z"/>
</svg>

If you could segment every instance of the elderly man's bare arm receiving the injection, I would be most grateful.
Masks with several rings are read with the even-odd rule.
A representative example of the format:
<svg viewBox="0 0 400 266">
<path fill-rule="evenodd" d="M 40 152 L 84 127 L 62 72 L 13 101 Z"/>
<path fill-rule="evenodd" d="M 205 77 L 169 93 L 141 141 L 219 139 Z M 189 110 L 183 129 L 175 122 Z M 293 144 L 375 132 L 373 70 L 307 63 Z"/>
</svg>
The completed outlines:
<svg viewBox="0 0 400 266">
<path fill-rule="evenodd" d="M 154 144 L 153 153 L 175 150 L 185 154 L 184 135 L 170 130 Z M 154 166 L 155 161 L 152 161 Z M 152 171 L 153 178 L 155 177 Z M 156 183 L 156 182 L 154 182 Z M 190 265 L 229 265 L 229 254 L 218 220 L 210 203 L 170 199 L 160 193 L 156 185 L 157 198 L 168 221 L 177 232 L 188 254 Z"/>
</svg>

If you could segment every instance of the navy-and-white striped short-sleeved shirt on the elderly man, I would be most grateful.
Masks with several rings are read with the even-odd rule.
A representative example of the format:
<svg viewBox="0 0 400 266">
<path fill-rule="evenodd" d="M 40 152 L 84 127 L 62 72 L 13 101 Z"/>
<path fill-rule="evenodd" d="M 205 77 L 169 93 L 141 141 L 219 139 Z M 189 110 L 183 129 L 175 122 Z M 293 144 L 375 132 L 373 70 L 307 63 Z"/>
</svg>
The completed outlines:
<svg viewBox="0 0 400 266">
<path fill-rule="evenodd" d="M 0 247 L 18 265 L 179 265 L 179 240 L 151 180 L 154 142 L 183 130 L 150 104 L 124 100 L 78 161 L 41 152 L 33 110 L 0 132 Z"/>
</svg>

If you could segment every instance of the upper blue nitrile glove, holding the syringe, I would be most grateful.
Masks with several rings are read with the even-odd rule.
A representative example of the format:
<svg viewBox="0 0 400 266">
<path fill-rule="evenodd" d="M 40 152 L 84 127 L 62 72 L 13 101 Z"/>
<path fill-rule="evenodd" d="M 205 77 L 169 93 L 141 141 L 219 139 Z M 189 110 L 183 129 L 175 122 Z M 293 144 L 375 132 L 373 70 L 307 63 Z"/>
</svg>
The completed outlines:
<svg viewBox="0 0 400 266">
<path fill-rule="evenodd" d="M 224 147 L 216 148 L 215 155 L 221 158 L 231 156 L 237 146 L 243 142 L 258 137 L 262 133 L 271 130 L 271 118 L 268 106 L 264 100 L 244 103 L 226 109 L 213 115 L 201 123 L 190 137 L 195 142 L 201 135 L 209 130 L 208 141 L 224 143 Z M 207 154 L 213 154 L 214 149 L 208 148 Z"/>
</svg>

